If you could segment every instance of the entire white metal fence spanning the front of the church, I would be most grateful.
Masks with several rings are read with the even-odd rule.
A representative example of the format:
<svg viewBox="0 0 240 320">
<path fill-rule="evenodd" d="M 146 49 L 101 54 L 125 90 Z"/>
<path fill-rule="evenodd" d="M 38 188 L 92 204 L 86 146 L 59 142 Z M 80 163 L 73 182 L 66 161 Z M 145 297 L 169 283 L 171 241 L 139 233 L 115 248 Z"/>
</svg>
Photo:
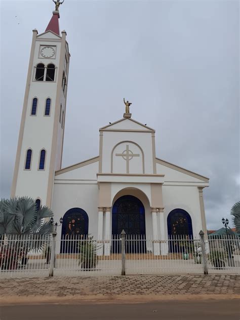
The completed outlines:
<svg viewBox="0 0 240 320">
<path fill-rule="evenodd" d="M 240 273 L 240 238 L 4 235 L 0 276 Z"/>
</svg>

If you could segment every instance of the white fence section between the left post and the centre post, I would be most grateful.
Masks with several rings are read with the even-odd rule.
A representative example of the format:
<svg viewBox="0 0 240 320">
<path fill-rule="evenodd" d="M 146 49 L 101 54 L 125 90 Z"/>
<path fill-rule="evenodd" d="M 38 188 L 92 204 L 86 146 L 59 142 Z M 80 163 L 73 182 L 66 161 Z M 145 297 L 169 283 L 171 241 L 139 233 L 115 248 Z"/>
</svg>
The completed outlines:
<svg viewBox="0 0 240 320">
<path fill-rule="evenodd" d="M 90 236 L 64 236 L 56 242 L 54 275 L 121 274 L 121 236 L 95 240 Z M 105 255 L 104 252 L 111 253 Z"/>
</svg>

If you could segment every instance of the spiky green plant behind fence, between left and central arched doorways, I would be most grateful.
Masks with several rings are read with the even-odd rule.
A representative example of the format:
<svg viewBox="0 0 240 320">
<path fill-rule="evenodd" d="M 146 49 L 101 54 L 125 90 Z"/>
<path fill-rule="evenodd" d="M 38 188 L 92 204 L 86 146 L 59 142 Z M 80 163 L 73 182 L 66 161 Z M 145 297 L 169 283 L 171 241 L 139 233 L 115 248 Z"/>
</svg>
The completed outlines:
<svg viewBox="0 0 240 320">
<path fill-rule="evenodd" d="M 98 245 L 93 240 L 93 236 L 88 236 L 78 243 L 78 265 L 84 270 L 93 270 L 98 263 Z"/>
</svg>

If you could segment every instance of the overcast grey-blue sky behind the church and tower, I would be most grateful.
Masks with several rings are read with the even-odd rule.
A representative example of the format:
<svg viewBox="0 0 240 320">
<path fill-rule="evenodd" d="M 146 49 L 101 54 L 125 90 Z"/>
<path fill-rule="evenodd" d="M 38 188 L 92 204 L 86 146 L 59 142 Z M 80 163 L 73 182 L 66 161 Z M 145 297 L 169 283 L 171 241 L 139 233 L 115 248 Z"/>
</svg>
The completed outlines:
<svg viewBox="0 0 240 320">
<path fill-rule="evenodd" d="M 2 197 L 32 29 L 44 32 L 53 10 L 51 0 L 1 1 Z M 98 155 L 98 129 L 122 118 L 125 97 L 156 130 L 157 157 L 210 178 L 207 226 L 222 227 L 240 191 L 238 1 L 65 0 L 60 16 L 71 54 L 63 167 Z"/>
</svg>

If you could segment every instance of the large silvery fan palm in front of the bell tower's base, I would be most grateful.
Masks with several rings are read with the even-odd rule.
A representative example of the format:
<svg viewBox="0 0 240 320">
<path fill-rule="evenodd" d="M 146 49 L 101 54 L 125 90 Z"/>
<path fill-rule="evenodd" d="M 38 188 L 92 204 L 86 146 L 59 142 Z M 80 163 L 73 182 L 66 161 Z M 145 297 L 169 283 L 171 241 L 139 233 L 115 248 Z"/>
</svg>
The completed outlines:
<svg viewBox="0 0 240 320">
<path fill-rule="evenodd" d="M 30 251 L 39 252 L 45 248 L 48 235 L 54 230 L 48 219 L 52 216 L 51 209 L 46 206 L 38 208 L 30 197 L 0 201 L 0 260 L 11 263 L 4 265 L 5 269 L 16 268 L 19 257 L 24 259 Z M 6 259 L 7 256 L 11 258 Z"/>
</svg>

